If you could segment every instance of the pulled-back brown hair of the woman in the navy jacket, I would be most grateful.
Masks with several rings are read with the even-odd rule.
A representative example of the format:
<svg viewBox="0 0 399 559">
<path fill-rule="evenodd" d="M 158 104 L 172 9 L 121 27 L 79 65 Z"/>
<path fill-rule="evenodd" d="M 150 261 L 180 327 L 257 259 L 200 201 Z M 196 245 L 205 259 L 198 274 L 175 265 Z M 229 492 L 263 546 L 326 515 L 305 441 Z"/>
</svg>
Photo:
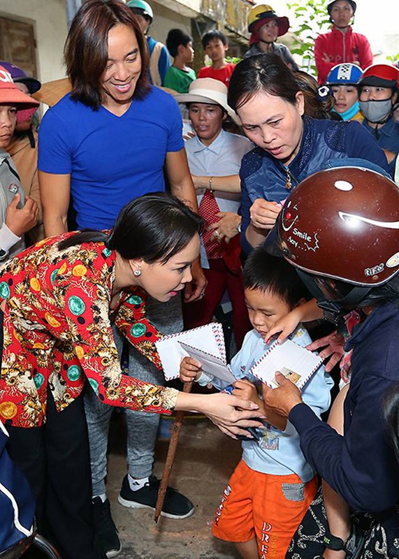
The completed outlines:
<svg viewBox="0 0 399 559">
<path fill-rule="evenodd" d="M 299 91 L 293 73 L 278 55 L 254 55 L 235 66 L 228 83 L 227 103 L 237 111 L 259 92 L 266 92 L 295 105 Z"/>
</svg>

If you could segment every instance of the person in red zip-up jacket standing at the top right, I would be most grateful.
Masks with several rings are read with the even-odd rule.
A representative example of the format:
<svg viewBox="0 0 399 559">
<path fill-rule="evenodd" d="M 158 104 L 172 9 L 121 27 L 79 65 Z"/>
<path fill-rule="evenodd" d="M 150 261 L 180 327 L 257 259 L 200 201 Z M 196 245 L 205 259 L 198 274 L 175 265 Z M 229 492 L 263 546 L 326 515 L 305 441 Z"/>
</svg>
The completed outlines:
<svg viewBox="0 0 399 559">
<path fill-rule="evenodd" d="M 363 70 L 372 64 L 372 52 L 368 39 L 352 31 L 349 22 L 356 11 L 354 0 L 332 0 L 327 5 L 333 28 L 319 35 L 314 41 L 314 59 L 319 84 L 326 81 L 328 72 L 335 64 L 351 62 Z"/>
</svg>

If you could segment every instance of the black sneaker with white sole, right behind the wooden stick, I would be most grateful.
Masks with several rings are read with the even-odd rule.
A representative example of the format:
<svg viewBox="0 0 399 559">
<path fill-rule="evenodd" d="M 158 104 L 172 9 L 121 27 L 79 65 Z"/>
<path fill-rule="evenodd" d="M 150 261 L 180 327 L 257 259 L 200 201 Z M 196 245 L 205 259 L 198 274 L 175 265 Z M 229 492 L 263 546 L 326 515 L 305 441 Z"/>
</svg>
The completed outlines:
<svg viewBox="0 0 399 559">
<path fill-rule="evenodd" d="M 147 483 L 137 491 L 131 491 L 129 479 L 127 475 L 122 481 L 122 489 L 118 496 L 118 501 L 124 507 L 155 509 L 157 504 L 157 496 L 159 484 L 161 481 L 154 475 L 150 475 Z M 188 518 L 194 512 L 194 504 L 184 497 L 175 489 L 168 487 L 166 489 L 164 507 L 162 507 L 161 516 L 168 518 Z"/>
</svg>

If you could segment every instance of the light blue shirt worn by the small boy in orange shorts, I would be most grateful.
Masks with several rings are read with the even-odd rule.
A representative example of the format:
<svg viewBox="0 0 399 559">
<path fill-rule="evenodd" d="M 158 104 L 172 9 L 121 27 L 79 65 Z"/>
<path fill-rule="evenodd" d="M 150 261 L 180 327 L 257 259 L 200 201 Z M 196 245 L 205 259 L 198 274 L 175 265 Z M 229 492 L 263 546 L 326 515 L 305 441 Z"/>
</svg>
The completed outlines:
<svg viewBox="0 0 399 559">
<path fill-rule="evenodd" d="M 303 347 L 312 342 L 310 335 L 301 325 L 291 334 L 290 339 Z M 261 335 L 255 330 L 247 333 L 242 348 L 230 364 L 235 378 L 249 377 L 249 380 L 254 382 L 256 379 L 249 374 L 249 370 L 269 347 L 270 344 L 265 344 Z M 227 384 L 214 383 L 212 378 L 202 373 L 198 383 L 205 385 L 209 382 L 219 390 L 224 389 Z M 330 391 L 333 384 L 333 379 L 325 372 L 324 366 L 321 366 L 303 387 L 303 401 L 317 416 L 321 416 L 330 406 Z M 300 438 L 292 423 L 288 422 L 284 431 L 266 423 L 263 429 L 259 429 L 259 433 L 261 434 L 259 441 L 242 441 L 242 459 L 248 467 L 256 472 L 276 476 L 297 474 L 303 483 L 314 477 L 315 472 L 300 450 Z"/>
</svg>

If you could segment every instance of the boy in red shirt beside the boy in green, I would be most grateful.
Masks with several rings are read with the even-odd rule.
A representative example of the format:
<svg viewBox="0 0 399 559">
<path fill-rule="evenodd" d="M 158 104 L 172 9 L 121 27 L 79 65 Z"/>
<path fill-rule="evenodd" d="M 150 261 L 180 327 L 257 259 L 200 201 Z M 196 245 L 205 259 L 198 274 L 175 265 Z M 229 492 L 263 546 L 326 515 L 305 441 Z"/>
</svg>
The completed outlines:
<svg viewBox="0 0 399 559">
<path fill-rule="evenodd" d="M 207 31 L 202 38 L 203 50 L 212 60 L 212 66 L 204 66 L 198 72 L 198 78 L 213 78 L 223 82 L 228 87 L 230 76 L 233 73 L 235 64 L 226 62 L 224 56 L 228 50 L 227 37 L 219 31 L 212 29 Z"/>
</svg>

